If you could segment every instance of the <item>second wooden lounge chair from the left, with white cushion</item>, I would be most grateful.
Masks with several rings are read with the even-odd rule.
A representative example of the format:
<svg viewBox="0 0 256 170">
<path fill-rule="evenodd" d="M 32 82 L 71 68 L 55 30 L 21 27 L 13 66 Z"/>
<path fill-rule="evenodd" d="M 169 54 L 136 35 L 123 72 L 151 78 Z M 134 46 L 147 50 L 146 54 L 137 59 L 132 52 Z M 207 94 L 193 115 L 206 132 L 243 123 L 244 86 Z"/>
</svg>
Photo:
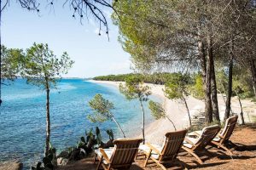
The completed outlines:
<svg viewBox="0 0 256 170">
<path fill-rule="evenodd" d="M 183 144 L 186 133 L 187 130 L 166 133 L 165 141 L 162 146 L 149 143 L 140 145 L 139 149 L 143 150 L 147 157 L 144 167 L 147 166 L 149 158 L 151 158 L 157 165 L 165 170 L 166 167 L 163 165 L 163 163 L 168 162 L 177 161 L 183 167 L 183 164 L 177 160 L 177 154 Z"/>
</svg>

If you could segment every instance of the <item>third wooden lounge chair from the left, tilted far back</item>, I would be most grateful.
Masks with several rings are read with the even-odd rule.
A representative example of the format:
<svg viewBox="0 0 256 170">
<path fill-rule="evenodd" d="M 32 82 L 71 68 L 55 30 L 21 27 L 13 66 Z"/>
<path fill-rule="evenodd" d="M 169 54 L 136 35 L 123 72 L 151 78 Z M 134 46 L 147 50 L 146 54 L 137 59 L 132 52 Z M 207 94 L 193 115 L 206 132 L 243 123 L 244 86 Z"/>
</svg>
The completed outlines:
<svg viewBox="0 0 256 170">
<path fill-rule="evenodd" d="M 189 152 L 190 155 L 194 156 L 197 161 L 202 164 L 203 161 L 199 156 L 196 155 L 197 151 L 205 150 L 205 147 L 211 143 L 212 139 L 218 134 L 220 127 L 218 125 L 213 125 L 210 127 L 204 127 L 202 133 L 198 138 L 186 137 L 183 142 L 183 150 Z"/>
</svg>

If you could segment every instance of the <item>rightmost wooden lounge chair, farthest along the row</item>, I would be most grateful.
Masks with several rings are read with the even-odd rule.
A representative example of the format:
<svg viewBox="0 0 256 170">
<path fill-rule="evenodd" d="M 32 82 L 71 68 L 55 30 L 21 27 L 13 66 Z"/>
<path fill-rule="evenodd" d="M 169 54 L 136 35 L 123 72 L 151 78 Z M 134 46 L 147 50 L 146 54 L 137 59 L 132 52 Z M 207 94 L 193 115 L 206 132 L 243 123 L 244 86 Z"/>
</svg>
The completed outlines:
<svg viewBox="0 0 256 170">
<path fill-rule="evenodd" d="M 231 156 L 233 155 L 233 153 L 230 149 L 226 147 L 226 145 L 231 143 L 230 136 L 236 127 L 237 119 L 238 116 L 231 116 L 230 118 L 228 118 L 225 122 L 224 129 L 221 131 L 221 133 L 218 133 L 217 136 L 211 141 L 212 144 L 216 145 L 218 148 L 226 150 Z M 190 134 L 199 136 L 201 135 L 201 131 L 195 131 L 193 133 L 189 133 L 189 135 Z"/>
</svg>

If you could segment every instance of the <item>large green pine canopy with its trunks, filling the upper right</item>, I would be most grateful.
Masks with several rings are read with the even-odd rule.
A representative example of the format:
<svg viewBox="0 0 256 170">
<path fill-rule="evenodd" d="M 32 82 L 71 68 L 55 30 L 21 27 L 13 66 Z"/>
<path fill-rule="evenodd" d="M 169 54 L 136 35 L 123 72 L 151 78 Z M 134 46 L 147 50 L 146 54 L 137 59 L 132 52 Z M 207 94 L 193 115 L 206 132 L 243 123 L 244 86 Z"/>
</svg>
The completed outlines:
<svg viewBox="0 0 256 170">
<path fill-rule="evenodd" d="M 207 123 L 213 121 L 212 114 L 219 121 L 216 63 L 228 68 L 225 118 L 230 113 L 233 66 L 250 70 L 255 89 L 253 1 L 135 0 L 119 1 L 115 8 L 119 42 L 138 71 L 201 72 Z"/>
</svg>

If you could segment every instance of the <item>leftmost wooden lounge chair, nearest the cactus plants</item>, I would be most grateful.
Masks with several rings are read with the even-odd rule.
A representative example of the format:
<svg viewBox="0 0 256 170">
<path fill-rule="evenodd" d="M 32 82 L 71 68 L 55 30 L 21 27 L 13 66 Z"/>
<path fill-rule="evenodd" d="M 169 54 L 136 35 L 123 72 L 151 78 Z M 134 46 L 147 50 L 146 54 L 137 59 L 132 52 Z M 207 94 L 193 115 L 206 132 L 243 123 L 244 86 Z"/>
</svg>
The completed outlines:
<svg viewBox="0 0 256 170">
<path fill-rule="evenodd" d="M 99 159 L 98 170 L 101 166 L 105 170 L 112 168 L 129 169 L 132 162 L 137 156 L 139 144 L 143 139 L 117 139 L 113 140 L 114 147 L 112 149 L 95 150 Z"/>
</svg>

